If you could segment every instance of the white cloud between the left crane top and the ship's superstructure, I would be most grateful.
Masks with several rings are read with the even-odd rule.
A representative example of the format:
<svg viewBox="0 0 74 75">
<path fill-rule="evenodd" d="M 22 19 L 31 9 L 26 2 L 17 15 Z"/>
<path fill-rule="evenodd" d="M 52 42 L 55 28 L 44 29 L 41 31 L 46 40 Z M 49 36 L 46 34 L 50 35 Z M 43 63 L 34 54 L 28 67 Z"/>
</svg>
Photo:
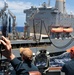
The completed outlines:
<svg viewBox="0 0 74 75">
<path fill-rule="evenodd" d="M 32 6 L 30 2 L 21 2 L 21 1 L 12 1 L 7 2 L 9 9 L 12 10 L 14 13 L 20 13 L 23 12 L 24 9 L 28 9 Z"/>
</svg>

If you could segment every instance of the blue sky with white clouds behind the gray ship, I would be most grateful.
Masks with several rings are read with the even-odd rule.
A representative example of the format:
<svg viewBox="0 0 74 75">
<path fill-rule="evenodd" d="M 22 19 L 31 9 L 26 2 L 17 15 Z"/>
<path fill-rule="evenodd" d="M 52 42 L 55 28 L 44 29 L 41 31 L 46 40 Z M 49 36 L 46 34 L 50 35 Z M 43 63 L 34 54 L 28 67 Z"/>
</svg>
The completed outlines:
<svg viewBox="0 0 74 75">
<path fill-rule="evenodd" d="M 16 16 L 16 25 L 24 26 L 25 23 L 25 9 L 29 9 L 31 6 L 40 6 L 43 2 L 48 3 L 48 0 L 0 0 L 0 9 L 4 7 L 4 1 L 7 2 L 8 10 L 10 10 Z M 50 6 L 55 6 L 56 0 L 50 0 Z M 66 0 L 66 11 L 67 13 L 74 13 L 74 0 Z"/>
</svg>

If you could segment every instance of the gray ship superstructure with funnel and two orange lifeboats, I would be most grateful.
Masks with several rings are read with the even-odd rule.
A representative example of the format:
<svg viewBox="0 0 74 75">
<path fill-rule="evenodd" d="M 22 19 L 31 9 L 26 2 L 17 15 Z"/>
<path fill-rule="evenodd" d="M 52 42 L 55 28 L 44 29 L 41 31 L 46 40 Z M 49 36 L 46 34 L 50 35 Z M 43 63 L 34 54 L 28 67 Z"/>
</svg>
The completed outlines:
<svg viewBox="0 0 74 75">
<path fill-rule="evenodd" d="M 48 2 L 50 4 L 50 2 Z M 45 2 L 40 7 L 32 6 L 24 10 L 26 13 L 25 31 L 30 37 L 30 33 L 49 34 L 52 38 L 67 37 L 73 33 L 74 15 L 66 12 L 66 1 L 56 0 L 55 7 L 51 7 Z M 35 30 L 34 30 L 35 28 Z M 73 34 L 72 34 L 73 35 Z"/>
</svg>

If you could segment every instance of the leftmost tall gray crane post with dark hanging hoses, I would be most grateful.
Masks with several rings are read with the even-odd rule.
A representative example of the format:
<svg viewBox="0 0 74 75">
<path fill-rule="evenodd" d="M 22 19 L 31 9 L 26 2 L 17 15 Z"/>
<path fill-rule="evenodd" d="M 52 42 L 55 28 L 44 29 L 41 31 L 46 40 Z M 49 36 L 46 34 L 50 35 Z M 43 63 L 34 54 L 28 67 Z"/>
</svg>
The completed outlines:
<svg viewBox="0 0 74 75">
<path fill-rule="evenodd" d="M 2 24 L 2 35 L 3 36 L 7 36 L 7 14 L 6 14 L 6 9 L 8 8 L 8 4 L 6 3 L 6 1 L 4 1 L 4 7 L 0 10 L 0 20 L 1 24 Z"/>
</svg>

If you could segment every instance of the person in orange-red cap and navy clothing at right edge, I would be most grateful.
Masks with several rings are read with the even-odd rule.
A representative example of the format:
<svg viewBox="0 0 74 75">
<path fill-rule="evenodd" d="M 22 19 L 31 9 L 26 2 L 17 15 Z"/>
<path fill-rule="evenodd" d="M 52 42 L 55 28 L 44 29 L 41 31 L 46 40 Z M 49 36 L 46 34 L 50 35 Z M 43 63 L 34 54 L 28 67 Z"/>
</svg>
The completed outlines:
<svg viewBox="0 0 74 75">
<path fill-rule="evenodd" d="M 74 46 L 68 52 L 70 53 L 71 61 L 65 63 L 61 69 L 65 75 L 74 75 Z"/>
</svg>

